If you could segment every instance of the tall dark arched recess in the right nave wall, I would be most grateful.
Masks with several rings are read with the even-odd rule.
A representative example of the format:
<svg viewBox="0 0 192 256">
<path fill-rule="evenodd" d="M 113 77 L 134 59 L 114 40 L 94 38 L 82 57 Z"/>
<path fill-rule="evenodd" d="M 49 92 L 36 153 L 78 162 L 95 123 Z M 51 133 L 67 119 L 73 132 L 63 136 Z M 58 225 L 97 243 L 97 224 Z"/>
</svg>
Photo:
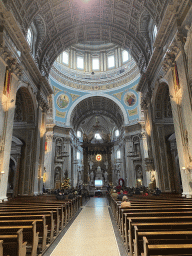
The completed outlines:
<svg viewBox="0 0 192 256">
<path fill-rule="evenodd" d="M 180 178 L 171 147 L 175 133 L 169 88 L 166 83 L 159 85 L 154 105 L 154 144 L 159 186 L 164 192 L 181 193 Z M 175 148 L 176 140 L 174 140 Z"/>
</svg>

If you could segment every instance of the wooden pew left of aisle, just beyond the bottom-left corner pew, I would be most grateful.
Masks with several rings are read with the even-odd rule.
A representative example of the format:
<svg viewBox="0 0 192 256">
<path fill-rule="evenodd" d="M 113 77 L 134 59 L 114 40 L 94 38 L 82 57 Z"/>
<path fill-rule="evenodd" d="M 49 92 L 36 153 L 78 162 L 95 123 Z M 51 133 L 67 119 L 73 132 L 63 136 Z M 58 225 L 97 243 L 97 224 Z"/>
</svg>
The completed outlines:
<svg viewBox="0 0 192 256">
<path fill-rule="evenodd" d="M 36 221 L 29 226 L 0 226 L 0 235 L 12 235 L 19 229 L 23 231 L 23 240 L 27 242 L 27 249 L 29 249 L 30 255 L 36 256 L 39 240 L 39 233 L 36 231 Z"/>
</svg>

